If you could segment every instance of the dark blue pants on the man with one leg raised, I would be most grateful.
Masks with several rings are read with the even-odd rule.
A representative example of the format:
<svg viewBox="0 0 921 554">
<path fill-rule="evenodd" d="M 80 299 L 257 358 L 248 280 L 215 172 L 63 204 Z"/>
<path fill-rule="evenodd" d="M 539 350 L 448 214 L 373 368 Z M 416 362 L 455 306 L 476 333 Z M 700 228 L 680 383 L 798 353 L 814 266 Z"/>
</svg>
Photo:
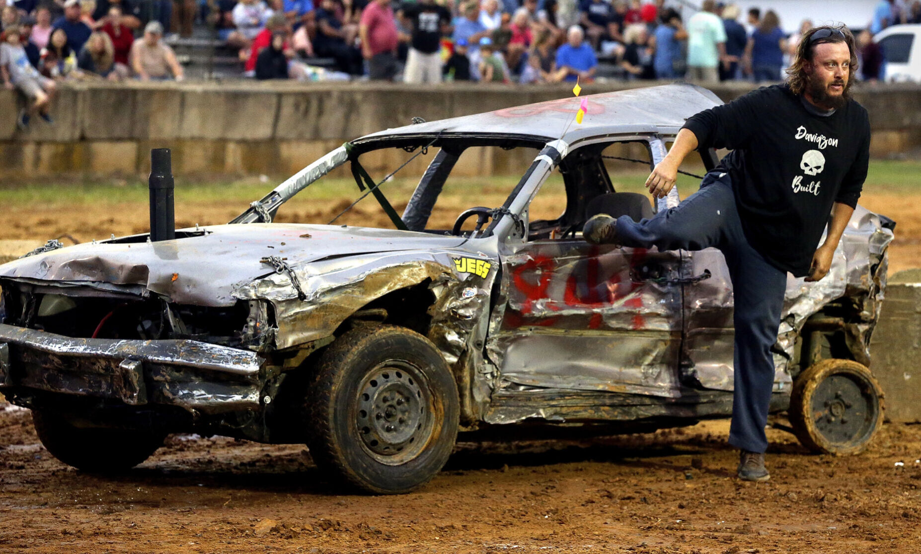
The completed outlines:
<svg viewBox="0 0 921 554">
<path fill-rule="evenodd" d="M 636 223 L 617 220 L 619 242 L 626 247 L 701 250 L 716 247 L 729 266 L 735 302 L 735 391 L 729 444 L 764 452 L 764 425 L 774 387 L 774 357 L 787 272 L 775 268 L 752 248 L 742 232 L 729 174 L 710 172 L 700 190 L 677 207 Z"/>
</svg>

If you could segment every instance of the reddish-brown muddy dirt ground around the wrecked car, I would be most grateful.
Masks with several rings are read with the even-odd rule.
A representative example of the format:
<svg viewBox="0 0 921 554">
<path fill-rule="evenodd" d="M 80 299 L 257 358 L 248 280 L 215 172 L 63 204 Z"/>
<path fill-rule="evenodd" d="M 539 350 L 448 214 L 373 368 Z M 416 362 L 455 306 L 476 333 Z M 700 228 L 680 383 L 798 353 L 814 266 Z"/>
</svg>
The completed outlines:
<svg viewBox="0 0 921 554">
<path fill-rule="evenodd" d="M 921 260 L 918 200 L 861 200 L 899 222 L 892 271 Z M 326 223 L 340 204 L 283 219 Z M 180 202 L 176 213 L 180 225 L 214 225 L 238 207 Z M 459 212 L 435 218 L 449 226 Z M 43 205 L 7 221 L 0 258 L 45 238 L 146 231 L 146 206 Z M 712 421 L 588 442 L 459 444 L 422 491 L 366 497 L 327 482 L 303 446 L 219 437 L 172 436 L 127 474 L 88 476 L 41 447 L 29 411 L 0 400 L 0 552 L 921 551 L 921 426 L 887 424 L 868 453 L 840 458 L 771 430 L 764 484 L 732 478 L 727 434 Z"/>
</svg>

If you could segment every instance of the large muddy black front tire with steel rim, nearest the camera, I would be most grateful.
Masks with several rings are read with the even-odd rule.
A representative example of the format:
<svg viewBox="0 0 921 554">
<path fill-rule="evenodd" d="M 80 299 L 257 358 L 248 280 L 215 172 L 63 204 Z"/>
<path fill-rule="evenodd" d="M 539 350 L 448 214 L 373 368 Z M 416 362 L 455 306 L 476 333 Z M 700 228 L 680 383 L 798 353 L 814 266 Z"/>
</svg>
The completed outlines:
<svg viewBox="0 0 921 554">
<path fill-rule="evenodd" d="M 363 326 L 318 361 L 306 398 L 318 467 L 358 491 L 398 494 L 435 477 L 457 439 L 460 401 L 435 345 L 401 327 Z"/>
</svg>

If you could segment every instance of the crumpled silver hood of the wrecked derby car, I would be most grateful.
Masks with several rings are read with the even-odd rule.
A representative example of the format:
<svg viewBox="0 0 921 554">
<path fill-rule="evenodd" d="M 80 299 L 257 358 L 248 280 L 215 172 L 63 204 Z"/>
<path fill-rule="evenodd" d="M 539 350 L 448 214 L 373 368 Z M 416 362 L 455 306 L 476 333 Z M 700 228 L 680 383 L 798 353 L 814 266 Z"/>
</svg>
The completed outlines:
<svg viewBox="0 0 921 554">
<path fill-rule="evenodd" d="M 229 306 L 233 291 L 273 273 L 260 260 L 292 268 L 330 256 L 450 248 L 461 237 L 367 227 L 247 224 L 207 227 L 204 235 L 159 242 L 103 241 L 52 250 L 0 265 L 0 277 L 141 285 L 174 302 Z M 185 229 L 192 232 L 192 229 Z"/>
</svg>

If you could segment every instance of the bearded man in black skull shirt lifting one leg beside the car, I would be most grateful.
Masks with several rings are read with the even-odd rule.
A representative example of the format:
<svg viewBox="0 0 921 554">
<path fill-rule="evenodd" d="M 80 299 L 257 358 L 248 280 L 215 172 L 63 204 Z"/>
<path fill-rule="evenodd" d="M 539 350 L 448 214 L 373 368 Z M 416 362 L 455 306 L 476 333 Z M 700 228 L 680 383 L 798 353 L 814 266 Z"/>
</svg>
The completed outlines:
<svg viewBox="0 0 921 554">
<path fill-rule="evenodd" d="M 809 282 L 828 273 L 867 177 L 867 110 L 848 94 L 856 69 L 849 30 L 810 29 L 800 40 L 786 84 L 694 115 L 646 183 L 660 198 L 692 150 L 732 149 L 706 174 L 700 190 L 640 223 L 600 214 L 583 231 L 592 243 L 722 250 L 735 301 L 729 444 L 741 451 L 740 479 L 770 477 L 764 468 L 764 424 L 787 271 Z M 828 233 L 819 246 L 826 223 Z"/>
</svg>

